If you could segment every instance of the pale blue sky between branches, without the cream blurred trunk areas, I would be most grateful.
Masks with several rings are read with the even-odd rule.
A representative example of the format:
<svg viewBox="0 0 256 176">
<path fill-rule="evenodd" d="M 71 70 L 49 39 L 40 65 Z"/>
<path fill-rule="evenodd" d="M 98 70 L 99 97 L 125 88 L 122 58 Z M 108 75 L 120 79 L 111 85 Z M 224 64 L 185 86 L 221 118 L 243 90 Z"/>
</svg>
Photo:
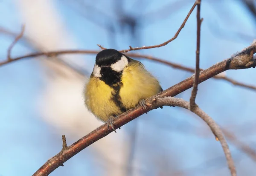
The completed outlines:
<svg viewBox="0 0 256 176">
<path fill-rule="evenodd" d="M 200 66 L 207 68 L 249 46 L 254 38 L 244 40 L 244 38 L 234 35 L 233 32 L 241 32 L 253 37 L 255 24 L 252 23 L 253 18 L 240 1 L 226 0 L 217 3 L 209 0 L 202 1 L 201 17 L 204 18 L 204 21 L 201 29 Z M 113 20 L 116 18 L 116 14 L 113 11 L 112 2 L 101 0 L 98 1 L 96 7 L 100 12 L 112 16 L 113 28 L 119 30 L 120 26 Z M 141 13 L 154 12 L 167 6 L 170 0 L 161 2 L 151 0 L 147 6 L 142 3 L 145 9 L 133 6 L 136 2 L 125 1 L 124 7 L 128 14 L 142 16 Z M 0 26 L 13 32 L 19 32 L 22 19 L 20 19 L 15 3 L 17 3 L 15 0 L 0 2 Z M 76 42 L 78 49 L 93 50 L 99 49 L 96 44 L 101 44 L 106 48 L 128 49 L 129 45 L 134 47 L 136 44 L 150 46 L 169 40 L 186 17 L 193 0 L 187 0 L 185 4 L 179 9 L 172 7 L 165 12 L 164 17 L 160 17 L 154 23 L 149 23 L 147 18 L 143 19 L 142 25 L 138 29 L 139 39 L 132 40 L 133 38 L 128 32 L 119 32 L 113 35 L 116 38 L 116 43 L 111 43 L 108 30 L 104 27 L 99 27 L 82 17 L 68 3 L 54 1 L 55 10 L 64 22 L 64 27 Z M 89 9 L 87 10 L 90 12 Z M 87 13 L 89 17 L 92 15 L 90 13 Z M 193 67 L 196 44 L 195 15 L 196 13 L 193 12 L 185 28 L 172 43 L 161 48 L 138 52 Z M 93 17 L 95 17 L 95 13 Z M 99 21 L 103 21 L 104 24 L 109 20 L 102 16 L 95 17 L 95 19 L 100 19 Z M 218 34 L 218 28 L 223 29 L 224 36 Z M 7 49 L 12 40 L 12 37 L 0 33 L 1 61 L 6 59 Z M 33 50 L 20 42 L 15 46 L 12 54 L 18 56 L 30 51 Z M 82 58 L 88 59 L 86 61 L 88 68 L 86 69 L 91 72 L 95 56 L 88 55 L 82 56 Z M 141 61 L 160 80 L 163 89 L 167 89 L 191 75 L 191 73 L 172 69 L 160 63 L 144 59 Z M 44 69 L 41 69 L 36 59 L 21 60 L 0 67 L 0 176 L 32 175 L 49 157 L 54 156 L 60 150 L 60 135 L 35 110 L 35 97 L 40 89 L 45 87 L 45 82 L 41 79 L 42 74 L 44 74 Z M 237 81 L 256 85 L 254 69 L 231 70 L 226 74 Z M 189 100 L 190 93 L 191 89 L 178 96 Z M 245 124 L 247 127 L 254 123 L 255 104 L 253 102 L 255 98 L 255 91 L 233 86 L 226 81 L 210 79 L 199 85 L 196 102 L 221 126 L 229 127 L 232 130 L 233 126 Z M 194 118 L 192 118 L 193 116 Z M 220 144 L 210 133 L 210 135 L 204 136 L 209 129 L 202 125 L 199 118 L 199 120 L 196 118 L 195 115 L 181 108 L 164 107 L 163 110 L 154 110 L 127 124 L 127 127 L 130 128 L 137 125 L 137 146 L 134 159 L 136 167 L 134 167 L 133 175 L 157 175 L 159 171 L 156 168 L 157 164 L 151 161 L 151 158 L 166 155 L 168 162 L 165 163 L 169 163 L 167 164 L 169 167 L 180 171 L 185 170 L 188 176 L 227 175 L 229 171 Z M 238 136 L 241 131 L 246 131 L 246 129 L 233 130 Z M 251 133 L 239 137 L 251 146 L 256 140 L 256 136 Z M 72 138 L 73 141 L 77 139 Z M 253 167 L 255 163 L 234 146 L 230 145 L 230 149 L 237 164 L 238 173 L 254 176 L 256 174 L 256 168 Z M 58 168 L 51 175 L 87 176 L 100 175 L 101 172 L 101 164 L 88 147 L 88 150 L 85 149 L 81 154 L 79 153 L 67 161 L 64 167 Z"/>
</svg>

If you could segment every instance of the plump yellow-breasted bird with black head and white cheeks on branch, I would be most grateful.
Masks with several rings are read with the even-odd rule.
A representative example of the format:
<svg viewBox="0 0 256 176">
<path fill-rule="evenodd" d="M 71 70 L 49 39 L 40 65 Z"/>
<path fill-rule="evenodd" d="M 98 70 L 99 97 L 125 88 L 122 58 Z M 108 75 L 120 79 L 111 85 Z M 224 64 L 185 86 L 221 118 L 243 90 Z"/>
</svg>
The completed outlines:
<svg viewBox="0 0 256 176">
<path fill-rule="evenodd" d="M 136 106 L 146 109 L 145 99 L 162 91 L 160 82 L 143 63 L 116 49 L 104 49 L 96 55 L 90 79 L 84 86 L 84 104 L 116 132 L 116 116 Z"/>
</svg>

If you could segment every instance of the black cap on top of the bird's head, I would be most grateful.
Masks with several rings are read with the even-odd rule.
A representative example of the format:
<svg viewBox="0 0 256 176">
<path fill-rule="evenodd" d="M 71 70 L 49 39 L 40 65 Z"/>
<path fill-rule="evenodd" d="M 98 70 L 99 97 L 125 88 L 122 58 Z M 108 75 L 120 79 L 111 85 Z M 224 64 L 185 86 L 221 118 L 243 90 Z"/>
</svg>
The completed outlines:
<svg viewBox="0 0 256 176">
<path fill-rule="evenodd" d="M 115 49 L 104 49 L 96 55 L 96 64 L 98 66 L 111 66 L 122 57 L 122 53 Z"/>
</svg>

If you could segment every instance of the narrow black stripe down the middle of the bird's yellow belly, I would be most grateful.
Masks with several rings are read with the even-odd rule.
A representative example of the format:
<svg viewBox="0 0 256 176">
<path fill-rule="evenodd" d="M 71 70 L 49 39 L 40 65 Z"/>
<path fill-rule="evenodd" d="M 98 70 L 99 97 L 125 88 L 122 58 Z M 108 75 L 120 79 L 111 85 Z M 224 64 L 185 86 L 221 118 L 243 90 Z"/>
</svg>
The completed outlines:
<svg viewBox="0 0 256 176">
<path fill-rule="evenodd" d="M 119 92 L 122 86 L 123 86 L 122 82 L 119 82 L 111 86 L 114 89 L 114 91 L 112 92 L 111 100 L 116 104 L 117 107 L 119 107 L 122 113 L 124 113 L 125 111 L 127 111 L 127 109 L 122 104 L 121 97 L 119 95 Z"/>
</svg>

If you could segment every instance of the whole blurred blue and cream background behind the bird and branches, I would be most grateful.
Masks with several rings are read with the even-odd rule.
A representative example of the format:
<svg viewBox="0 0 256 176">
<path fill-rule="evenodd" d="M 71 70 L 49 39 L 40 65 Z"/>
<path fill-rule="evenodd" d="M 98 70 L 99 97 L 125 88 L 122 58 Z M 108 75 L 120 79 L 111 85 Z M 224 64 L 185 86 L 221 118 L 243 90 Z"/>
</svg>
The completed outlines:
<svg viewBox="0 0 256 176">
<path fill-rule="evenodd" d="M 12 57 L 32 52 L 128 49 L 163 43 L 180 27 L 194 0 L 1 0 L 0 62 L 25 24 Z M 202 0 L 201 68 L 220 62 L 256 38 L 254 0 Z M 195 67 L 196 11 L 167 46 L 139 50 Z M 140 59 L 167 89 L 192 75 Z M 61 150 L 99 127 L 83 102 L 83 87 L 95 55 L 22 59 L 0 66 L 0 176 L 29 176 Z M 256 85 L 255 69 L 226 76 Z M 256 151 L 256 91 L 210 79 L 199 85 L 196 102 L 229 140 L 238 175 L 255 176 L 255 158 L 234 141 Z M 191 89 L 177 95 L 189 100 Z M 100 139 L 57 168 L 51 176 L 227 176 L 223 150 L 207 125 L 178 107 L 144 114 Z"/>
</svg>

